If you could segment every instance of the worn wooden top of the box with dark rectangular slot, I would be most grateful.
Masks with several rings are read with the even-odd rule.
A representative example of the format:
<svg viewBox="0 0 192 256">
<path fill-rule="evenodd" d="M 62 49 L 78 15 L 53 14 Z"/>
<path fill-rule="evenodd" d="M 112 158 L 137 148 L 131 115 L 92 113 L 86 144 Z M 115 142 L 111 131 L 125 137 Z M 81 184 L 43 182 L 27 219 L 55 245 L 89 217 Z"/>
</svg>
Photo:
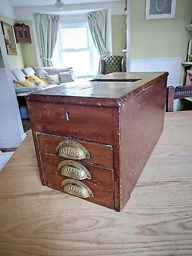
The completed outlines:
<svg viewBox="0 0 192 256">
<path fill-rule="evenodd" d="M 33 92 L 26 96 L 26 100 L 118 108 L 166 76 L 167 72 L 112 73 L 92 81 L 74 81 Z"/>
</svg>

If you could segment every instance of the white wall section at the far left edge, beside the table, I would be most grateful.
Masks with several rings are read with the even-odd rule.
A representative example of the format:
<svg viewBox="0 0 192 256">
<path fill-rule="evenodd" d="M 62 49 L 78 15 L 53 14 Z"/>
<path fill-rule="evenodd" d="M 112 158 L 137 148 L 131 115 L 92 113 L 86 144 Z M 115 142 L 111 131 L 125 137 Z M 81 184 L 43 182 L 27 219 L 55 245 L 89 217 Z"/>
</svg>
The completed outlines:
<svg viewBox="0 0 192 256">
<path fill-rule="evenodd" d="M 0 148 L 14 148 L 20 145 L 26 134 L 22 128 L 1 28 L 0 51 L 4 64 L 4 68 L 0 68 Z"/>
</svg>

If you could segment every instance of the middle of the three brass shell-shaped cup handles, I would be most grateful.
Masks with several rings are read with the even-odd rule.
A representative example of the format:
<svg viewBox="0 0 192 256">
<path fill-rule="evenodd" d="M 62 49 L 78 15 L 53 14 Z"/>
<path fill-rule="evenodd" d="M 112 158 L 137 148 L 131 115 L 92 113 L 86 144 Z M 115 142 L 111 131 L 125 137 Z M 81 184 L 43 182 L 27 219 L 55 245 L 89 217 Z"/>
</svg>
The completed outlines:
<svg viewBox="0 0 192 256">
<path fill-rule="evenodd" d="M 80 163 L 72 160 L 65 160 L 59 163 L 60 173 L 69 178 L 77 180 L 92 179 L 90 172 Z"/>
</svg>

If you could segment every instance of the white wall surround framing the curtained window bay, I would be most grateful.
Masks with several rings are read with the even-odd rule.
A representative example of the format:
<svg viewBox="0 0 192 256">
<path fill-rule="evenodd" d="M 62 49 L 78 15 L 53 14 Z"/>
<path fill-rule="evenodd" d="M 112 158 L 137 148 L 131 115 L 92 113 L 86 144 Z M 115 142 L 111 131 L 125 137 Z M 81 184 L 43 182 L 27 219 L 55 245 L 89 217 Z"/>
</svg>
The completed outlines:
<svg viewBox="0 0 192 256">
<path fill-rule="evenodd" d="M 111 42 L 111 15 L 123 15 L 125 14 L 125 1 L 108 1 L 102 3 L 89 3 L 89 4 L 66 4 L 62 10 L 58 10 L 54 5 L 52 6 L 30 6 L 30 7 L 15 7 L 15 19 L 18 20 L 32 20 L 33 33 L 36 45 L 36 55 L 38 59 L 38 65 L 42 66 L 42 58 L 40 57 L 40 45 L 36 33 L 36 25 L 34 14 L 35 13 L 52 13 L 57 15 L 70 15 L 69 19 L 76 20 L 76 15 L 86 15 L 88 12 L 95 10 L 108 9 L 108 28 L 107 28 L 107 48 L 112 54 L 112 42 Z M 72 15 L 72 16 L 71 16 Z M 73 18 L 72 18 L 73 17 Z M 72 22 L 74 21 L 72 20 Z"/>
</svg>

